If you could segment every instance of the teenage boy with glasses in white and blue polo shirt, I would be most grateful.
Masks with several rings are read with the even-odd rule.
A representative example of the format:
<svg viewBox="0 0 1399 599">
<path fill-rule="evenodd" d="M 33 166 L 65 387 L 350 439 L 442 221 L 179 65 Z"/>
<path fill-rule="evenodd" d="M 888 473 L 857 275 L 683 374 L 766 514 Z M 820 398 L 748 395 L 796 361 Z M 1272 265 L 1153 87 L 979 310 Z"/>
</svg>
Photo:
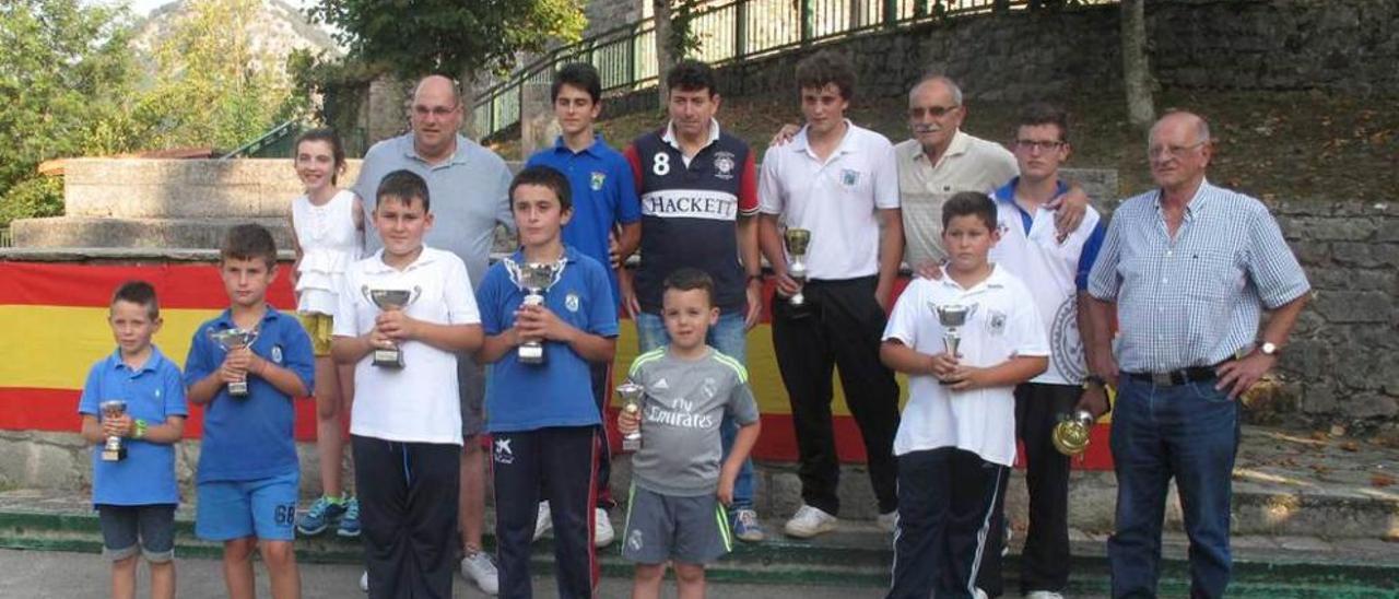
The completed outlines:
<svg viewBox="0 0 1399 599">
<path fill-rule="evenodd" d="M 1069 185 L 1059 165 L 1069 158 L 1069 118 L 1063 109 L 1031 104 L 1016 119 L 1011 141 L 1020 176 L 996 190 L 1000 241 L 990 262 L 1020 277 L 1035 297 L 1048 333 L 1049 369 L 1016 386 L 1016 437 L 1025 444 L 1025 487 L 1030 491 L 1030 530 L 1020 560 L 1020 589 L 1030 599 L 1062 599 L 1069 584 L 1069 456 L 1055 449 L 1051 435 L 1062 416 L 1073 411 L 1090 379 L 1079 322 L 1087 319 L 1088 272 L 1102 246 L 1102 218 L 1091 206 L 1083 225 L 1067 237 L 1055 231 L 1055 213 L 1045 204 Z M 1101 385 L 1101 379 L 1098 383 Z M 1007 470 L 1009 473 L 1009 470 Z M 1004 495 L 1002 494 L 1002 502 Z M 997 519 L 1003 511 L 997 507 Z M 992 523 L 1000 530 L 999 522 Z M 981 588 L 1000 595 L 1000 543 L 981 571 Z"/>
</svg>

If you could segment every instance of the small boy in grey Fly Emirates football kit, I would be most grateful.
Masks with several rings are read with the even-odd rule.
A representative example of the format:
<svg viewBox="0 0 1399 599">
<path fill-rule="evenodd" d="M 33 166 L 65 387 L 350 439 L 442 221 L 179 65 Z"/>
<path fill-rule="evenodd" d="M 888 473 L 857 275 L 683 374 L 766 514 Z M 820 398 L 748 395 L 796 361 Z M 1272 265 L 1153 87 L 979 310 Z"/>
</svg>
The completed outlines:
<svg viewBox="0 0 1399 599">
<path fill-rule="evenodd" d="M 630 378 L 646 388 L 642 409 L 617 417 L 621 432 L 642 431 L 632 456 L 632 486 L 621 554 L 637 563 L 632 598 L 660 596 L 666 563 L 676 567 L 680 596 L 704 596 L 704 567 L 733 547 L 723 505 L 758 439 L 758 406 L 748 372 L 705 344 L 719 319 L 713 281 L 701 270 L 666 277 L 662 316 L 670 346 L 631 364 Z M 719 463 L 719 421 L 739 423 L 729 459 Z"/>
</svg>

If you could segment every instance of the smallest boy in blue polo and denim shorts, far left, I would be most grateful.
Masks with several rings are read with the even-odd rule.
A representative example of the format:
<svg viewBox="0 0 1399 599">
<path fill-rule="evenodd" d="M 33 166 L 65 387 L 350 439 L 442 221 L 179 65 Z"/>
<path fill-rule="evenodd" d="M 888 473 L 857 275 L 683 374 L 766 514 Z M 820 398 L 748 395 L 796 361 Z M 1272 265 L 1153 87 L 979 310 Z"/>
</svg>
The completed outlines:
<svg viewBox="0 0 1399 599">
<path fill-rule="evenodd" d="M 151 598 L 175 596 L 175 444 L 185 434 L 185 385 L 179 368 L 151 344 L 161 330 L 155 288 L 127 281 L 112 295 L 108 315 L 116 351 L 88 371 L 78 400 L 83 438 L 92 448 L 92 505 L 102 528 L 102 553 L 112 560 L 112 596 L 136 596 L 136 553 L 151 564 Z M 120 416 L 104 416 L 102 402 L 126 402 Z M 109 437 L 126 456 L 102 459 Z"/>
</svg>

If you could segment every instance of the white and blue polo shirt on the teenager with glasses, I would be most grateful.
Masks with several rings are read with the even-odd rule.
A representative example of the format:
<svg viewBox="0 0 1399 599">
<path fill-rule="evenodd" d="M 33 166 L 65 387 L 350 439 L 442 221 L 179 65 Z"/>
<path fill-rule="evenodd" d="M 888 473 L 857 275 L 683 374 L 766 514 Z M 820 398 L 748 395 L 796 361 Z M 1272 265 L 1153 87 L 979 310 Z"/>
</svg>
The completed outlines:
<svg viewBox="0 0 1399 599">
<path fill-rule="evenodd" d="M 1102 220 L 1090 206 L 1083 224 L 1059 242 L 1055 211 L 1039 207 L 1025 231 L 1025 211 L 1011 199 L 996 199 L 1000 241 L 990 248 L 990 262 L 1004 266 L 1030 288 L 1044 318 L 1045 334 L 1053 351 L 1049 369 L 1030 382 L 1079 385 L 1088 375 L 1079 334 L 1079 287 L 1076 277 L 1083 248 Z"/>
</svg>

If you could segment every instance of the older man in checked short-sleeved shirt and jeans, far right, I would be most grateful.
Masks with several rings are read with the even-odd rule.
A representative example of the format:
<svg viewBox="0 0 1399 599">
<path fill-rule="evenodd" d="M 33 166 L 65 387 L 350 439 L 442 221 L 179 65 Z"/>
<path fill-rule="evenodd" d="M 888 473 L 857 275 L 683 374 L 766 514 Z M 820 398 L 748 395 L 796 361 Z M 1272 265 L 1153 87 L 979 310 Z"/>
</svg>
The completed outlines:
<svg viewBox="0 0 1399 599">
<path fill-rule="evenodd" d="M 1147 155 L 1160 189 L 1116 210 L 1088 279 L 1084 343 L 1095 378 L 1081 406 L 1101 414 L 1102 383 L 1118 382 L 1112 596 L 1156 596 L 1175 477 L 1191 537 L 1191 596 L 1220 598 L 1230 579 L 1235 400 L 1277 362 L 1311 287 L 1267 209 L 1205 179 L 1213 157 L 1205 119 L 1163 116 Z M 1265 309 L 1272 315 L 1259 332 Z"/>
</svg>

